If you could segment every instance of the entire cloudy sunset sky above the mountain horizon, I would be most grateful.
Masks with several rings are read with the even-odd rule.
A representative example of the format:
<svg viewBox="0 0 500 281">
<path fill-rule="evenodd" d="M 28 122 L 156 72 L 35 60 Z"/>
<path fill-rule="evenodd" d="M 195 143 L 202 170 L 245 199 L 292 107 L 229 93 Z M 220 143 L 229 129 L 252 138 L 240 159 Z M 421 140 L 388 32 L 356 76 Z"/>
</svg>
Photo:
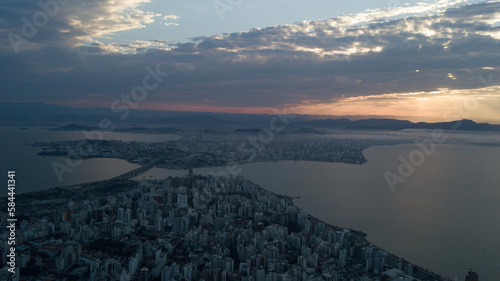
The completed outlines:
<svg viewBox="0 0 500 281">
<path fill-rule="evenodd" d="M 2 102 L 500 123 L 498 50 L 500 1 L 0 0 Z"/>
</svg>

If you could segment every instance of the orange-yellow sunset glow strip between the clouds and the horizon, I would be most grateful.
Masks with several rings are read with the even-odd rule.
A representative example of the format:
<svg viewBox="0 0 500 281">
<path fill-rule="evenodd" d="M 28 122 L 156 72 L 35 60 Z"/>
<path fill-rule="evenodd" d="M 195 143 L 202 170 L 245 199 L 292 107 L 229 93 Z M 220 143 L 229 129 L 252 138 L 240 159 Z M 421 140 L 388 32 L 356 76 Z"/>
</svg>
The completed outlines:
<svg viewBox="0 0 500 281">
<path fill-rule="evenodd" d="M 276 112 L 326 116 L 380 116 L 413 122 L 443 122 L 461 119 L 500 123 L 500 87 L 474 90 L 439 89 L 432 92 L 391 93 L 343 97 L 331 102 L 304 100 L 286 106 L 225 106 L 217 104 L 138 103 L 139 110 L 189 111 L 213 113 L 268 114 Z M 112 101 L 81 99 L 54 103 L 71 107 L 111 107 Z M 119 106 L 124 106 L 120 104 Z"/>
</svg>

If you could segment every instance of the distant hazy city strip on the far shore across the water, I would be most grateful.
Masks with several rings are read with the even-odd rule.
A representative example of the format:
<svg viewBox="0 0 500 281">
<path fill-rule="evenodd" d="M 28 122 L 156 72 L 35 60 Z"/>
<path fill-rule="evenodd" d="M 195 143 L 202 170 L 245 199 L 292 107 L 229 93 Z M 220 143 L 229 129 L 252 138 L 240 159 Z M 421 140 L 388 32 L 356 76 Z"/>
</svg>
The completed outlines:
<svg viewBox="0 0 500 281">
<path fill-rule="evenodd" d="M 309 160 L 362 164 L 363 149 L 387 141 L 346 140 L 328 136 L 259 134 L 193 134 L 166 142 L 123 142 L 106 140 L 59 141 L 36 143 L 40 155 L 64 155 L 71 158 L 120 158 L 145 164 L 162 159 L 156 166 L 167 169 L 224 166 L 278 160 Z"/>
</svg>

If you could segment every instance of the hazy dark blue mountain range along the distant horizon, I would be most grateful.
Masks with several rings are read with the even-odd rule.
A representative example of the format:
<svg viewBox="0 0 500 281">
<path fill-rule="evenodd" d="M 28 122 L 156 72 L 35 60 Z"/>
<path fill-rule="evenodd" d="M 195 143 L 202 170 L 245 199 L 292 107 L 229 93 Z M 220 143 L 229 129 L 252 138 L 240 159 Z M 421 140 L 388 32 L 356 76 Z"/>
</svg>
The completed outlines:
<svg viewBox="0 0 500 281">
<path fill-rule="evenodd" d="M 252 133 L 255 128 L 269 126 L 271 115 L 231 114 L 182 111 L 131 110 L 121 120 L 120 114 L 109 108 L 72 108 L 44 103 L 0 103 L 0 124 L 13 125 L 59 125 L 55 130 L 74 131 L 97 129 L 103 118 L 116 123 L 120 132 L 178 133 L 182 127 L 204 130 L 225 129 L 233 133 Z M 295 134 L 322 134 L 322 130 L 404 130 L 444 129 L 462 131 L 500 131 L 500 125 L 476 123 L 472 120 L 451 122 L 414 123 L 388 118 L 349 120 L 347 118 L 297 115 L 290 120 L 287 129 Z M 208 132 L 208 131 L 207 131 Z"/>
</svg>

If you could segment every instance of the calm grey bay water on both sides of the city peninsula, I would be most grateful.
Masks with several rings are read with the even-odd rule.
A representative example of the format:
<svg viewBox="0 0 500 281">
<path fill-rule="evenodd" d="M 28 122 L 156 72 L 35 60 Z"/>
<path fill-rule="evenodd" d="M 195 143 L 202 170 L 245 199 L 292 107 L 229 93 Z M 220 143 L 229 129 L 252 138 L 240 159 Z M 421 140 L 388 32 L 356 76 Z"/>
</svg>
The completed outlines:
<svg viewBox="0 0 500 281">
<path fill-rule="evenodd" d="M 14 129 L 17 128 L 7 130 Z M 79 139 L 78 132 L 47 132 L 43 141 Z M 55 133 L 62 135 L 51 137 Z M 63 137 L 64 134 L 75 134 L 75 137 Z M 144 138 L 144 135 L 127 135 Z M 36 155 L 36 148 L 14 145 L 14 142 L 34 142 L 29 134 L 11 141 L 13 149 L 8 153 L 22 155 L 23 159 L 14 158 L 19 163 L 42 161 L 38 165 L 49 165 L 48 172 L 51 172 L 50 163 L 54 159 L 64 160 L 62 157 L 40 157 Z M 495 173 L 499 166 L 499 148 L 440 145 L 412 176 L 396 186 L 393 193 L 383 174 L 387 170 L 397 170 L 398 156 L 407 157 L 413 149 L 415 145 L 368 148 L 364 151 L 368 162 L 363 165 L 306 161 L 244 164 L 242 175 L 272 192 L 300 196 L 295 204 L 311 215 L 333 225 L 361 230 L 375 245 L 439 274 L 460 280 L 472 267 L 481 280 L 495 280 L 500 276 L 496 256 L 500 252 L 497 239 L 500 234 L 500 179 Z M 118 166 L 117 169 L 114 165 L 117 163 L 106 161 L 130 166 Z M 92 165 L 84 165 L 87 162 Z M 12 167 L 31 171 L 30 167 L 20 165 Z M 97 170 L 92 169 L 111 170 L 108 175 L 112 177 L 135 167 L 137 165 L 124 160 L 89 159 L 83 160 L 70 177 L 81 176 L 81 182 L 95 181 Z M 194 172 L 217 171 L 217 168 L 203 168 Z M 179 173 L 183 172 L 154 168 L 139 178 L 161 178 Z M 53 174 L 30 174 L 31 185 L 44 182 L 45 185 L 37 186 L 47 188 L 51 187 L 47 183 L 55 183 L 54 179 L 46 180 L 44 176 L 52 177 Z M 19 181 L 22 182 L 22 174 L 19 174 Z"/>
</svg>

